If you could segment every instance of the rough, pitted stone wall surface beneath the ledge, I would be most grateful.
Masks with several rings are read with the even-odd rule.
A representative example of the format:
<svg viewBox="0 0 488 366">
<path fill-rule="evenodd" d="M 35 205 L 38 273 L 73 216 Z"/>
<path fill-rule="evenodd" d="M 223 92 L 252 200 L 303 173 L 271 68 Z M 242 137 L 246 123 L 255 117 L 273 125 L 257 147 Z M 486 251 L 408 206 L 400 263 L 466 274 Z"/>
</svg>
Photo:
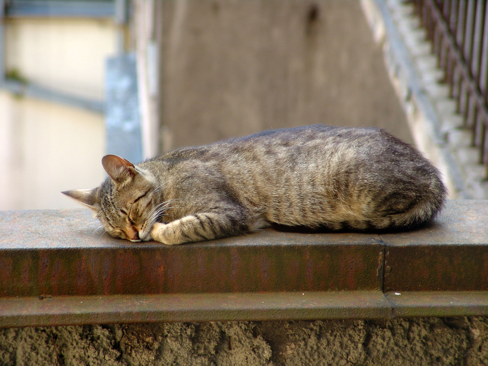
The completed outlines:
<svg viewBox="0 0 488 366">
<path fill-rule="evenodd" d="M 0 365 L 488 364 L 487 318 L 0 329 Z"/>
</svg>

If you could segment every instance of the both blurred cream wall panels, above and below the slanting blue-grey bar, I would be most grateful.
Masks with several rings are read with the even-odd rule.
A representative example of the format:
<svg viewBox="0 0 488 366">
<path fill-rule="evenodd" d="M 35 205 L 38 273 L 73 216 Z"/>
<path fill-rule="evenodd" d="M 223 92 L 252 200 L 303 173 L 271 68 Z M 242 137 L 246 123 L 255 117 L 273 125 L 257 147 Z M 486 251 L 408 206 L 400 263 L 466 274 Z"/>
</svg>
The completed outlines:
<svg viewBox="0 0 488 366">
<path fill-rule="evenodd" d="M 108 20 L 5 23 L 7 72 L 87 99 L 104 99 L 105 60 L 116 45 Z M 0 89 L 1 210 L 80 207 L 60 192 L 100 184 L 104 152 L 103 114 Z"/>
</svg>

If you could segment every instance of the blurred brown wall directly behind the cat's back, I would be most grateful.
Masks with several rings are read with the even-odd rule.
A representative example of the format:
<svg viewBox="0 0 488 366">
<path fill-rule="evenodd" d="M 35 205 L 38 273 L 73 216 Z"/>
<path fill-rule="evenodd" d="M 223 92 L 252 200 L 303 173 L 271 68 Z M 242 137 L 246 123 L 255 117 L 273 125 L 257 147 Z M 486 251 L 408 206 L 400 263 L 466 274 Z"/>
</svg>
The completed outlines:
<svg viewBox="0 0 488 366">
<path fill-rule="evenodd" d="M 359 1 L 164 1 L 162 46 L 165 149 L 313 123 L 411 141 Z"/>
</svg>

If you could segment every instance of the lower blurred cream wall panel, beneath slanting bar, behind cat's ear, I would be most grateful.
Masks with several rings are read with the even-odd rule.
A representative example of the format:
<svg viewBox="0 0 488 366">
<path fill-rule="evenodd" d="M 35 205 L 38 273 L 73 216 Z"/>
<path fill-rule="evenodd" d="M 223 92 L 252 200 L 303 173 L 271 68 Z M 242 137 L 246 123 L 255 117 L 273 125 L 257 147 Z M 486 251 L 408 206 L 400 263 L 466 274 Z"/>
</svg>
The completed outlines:
<svg viewBox="0 0 488 366">
<path fill-rule="evenodd" d="M 79 207 L 60 192 L 102 181 L 102 115 L 2 92 L 0 121 L 0 209 Z"/>
</svg>

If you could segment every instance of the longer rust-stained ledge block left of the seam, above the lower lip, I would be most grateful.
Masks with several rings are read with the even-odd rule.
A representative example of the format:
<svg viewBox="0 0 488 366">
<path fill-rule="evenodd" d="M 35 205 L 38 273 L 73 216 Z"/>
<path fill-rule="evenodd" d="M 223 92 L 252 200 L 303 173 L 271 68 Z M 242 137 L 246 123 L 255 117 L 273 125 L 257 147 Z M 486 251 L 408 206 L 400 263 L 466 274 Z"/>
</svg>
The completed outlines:
<svg viewBox="0 0 488 366">
<path fill-rule="evenodd" d="M 1 212 L 0 296 L 381 289 L 375 234 L 269 229 L 134 244 L 101 235 L 86 211 Z"/>
</svg>

